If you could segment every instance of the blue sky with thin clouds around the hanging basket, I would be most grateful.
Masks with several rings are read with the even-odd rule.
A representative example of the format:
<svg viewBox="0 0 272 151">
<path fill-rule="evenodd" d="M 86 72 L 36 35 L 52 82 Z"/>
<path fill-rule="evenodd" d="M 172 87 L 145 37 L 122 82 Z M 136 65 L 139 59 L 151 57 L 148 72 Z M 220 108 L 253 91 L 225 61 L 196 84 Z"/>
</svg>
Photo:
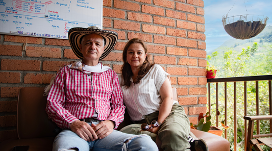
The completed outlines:
<svg viewBox="0 0 272 151">
<path fill-rule="evenodd" d="M 272 26 L 272 0 L 204 0 L 206 51 L 213 50 L 225 41 L 233 39 L 222 24 L 222 16 L 260 15 L 269 19 L 266 26 Z"/>
</svg>

